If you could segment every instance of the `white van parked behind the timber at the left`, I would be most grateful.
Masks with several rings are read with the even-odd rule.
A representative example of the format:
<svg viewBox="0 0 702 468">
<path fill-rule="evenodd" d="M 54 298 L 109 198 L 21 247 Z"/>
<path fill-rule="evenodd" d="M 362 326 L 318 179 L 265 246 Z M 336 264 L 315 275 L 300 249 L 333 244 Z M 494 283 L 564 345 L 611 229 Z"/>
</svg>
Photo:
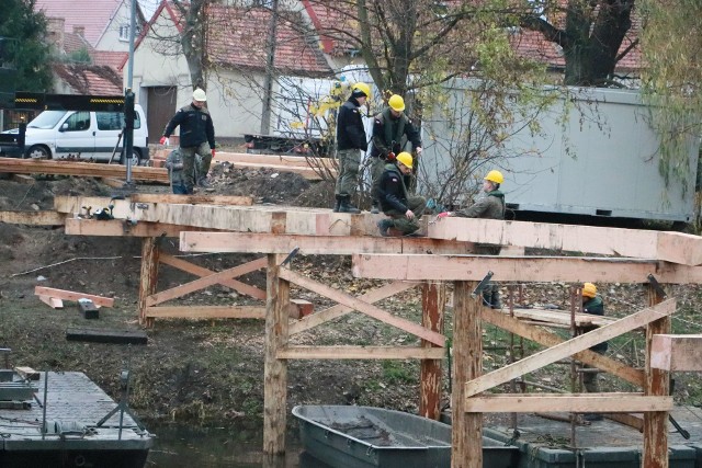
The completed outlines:
<svg viewBox="0 0 702 468">
<path fill-rule="evenodd" d="M 132 164 L 138 165 L 148 160 L 149 148 L 144 110 L 137 104 L 135 111 Z M 124 163 L 123 128 L 122 112 L 44 111 L 26 126 L 23 157 L 106 162 L 114 153 L 114 161 Z"/>
</svg>

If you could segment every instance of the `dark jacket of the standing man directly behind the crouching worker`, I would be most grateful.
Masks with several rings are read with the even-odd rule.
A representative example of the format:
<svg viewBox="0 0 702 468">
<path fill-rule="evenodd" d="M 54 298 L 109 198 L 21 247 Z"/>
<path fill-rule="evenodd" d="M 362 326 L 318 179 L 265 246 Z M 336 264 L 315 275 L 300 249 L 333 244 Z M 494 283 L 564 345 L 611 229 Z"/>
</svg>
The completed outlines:
<svg viewBox="0 0 702 468">
<path fill-rule="evenodd" d="M 405 150 L 407 141 L 412 144 L 412 149 L 421 146 L 419 132 L 412 125 L 412 122 L 405 114 L 400 114 L 395 118 L 387 107 L 375 116 L 373 121 L 373 150 L 371 156 L 384 159 L 388 152 L 398 155 Z"/>
</svg>

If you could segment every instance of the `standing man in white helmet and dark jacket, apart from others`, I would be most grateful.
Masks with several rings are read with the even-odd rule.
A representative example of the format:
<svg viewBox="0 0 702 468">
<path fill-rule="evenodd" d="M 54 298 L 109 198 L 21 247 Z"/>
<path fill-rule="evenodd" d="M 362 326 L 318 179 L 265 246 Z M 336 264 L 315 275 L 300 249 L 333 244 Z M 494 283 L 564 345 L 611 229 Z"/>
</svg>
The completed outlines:
<svg viewBox="0 0 702 468">
<path fill-rule="evenodd" d="M 205 102 L 207 95 L 197 88 L 193 92 L 193 101 L 179 109 L 168 123 L 160 139 L 161 145 L 168 145 L 168 139 L 180 125 L 180 152 L 183 158 L 183 182 L 189 194 L 195 186 L 195 155 L 201 158 L 197 171 L 197 185 L 208 187 L 207 172 L 215 156 L 215 127 Z"/>
</svg>

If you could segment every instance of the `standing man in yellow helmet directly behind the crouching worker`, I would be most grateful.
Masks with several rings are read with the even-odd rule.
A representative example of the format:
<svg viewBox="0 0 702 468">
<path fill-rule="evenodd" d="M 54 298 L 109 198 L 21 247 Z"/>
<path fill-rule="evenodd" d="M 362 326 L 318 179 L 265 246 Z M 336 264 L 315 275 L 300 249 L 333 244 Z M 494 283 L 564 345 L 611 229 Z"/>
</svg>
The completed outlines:
<svg viewBox="0 0 702 468">
<path fill-rule="evenodd" d="M 417 156 L 421 153 L 419 132 L 405 115 L 405 100 L 399 94 L 393 94 L 387 100 L 388 107 L 375 116 L 373 122 L 373 149 L 371 150 L 371 196 L 373 206 L 371 213 L 378 213 L 377 184 L 385 171 L 385 163 L 405 150 L 407 141 L 412 144 Z M 405 184 L 407 185 L 407 184 Z"/>
</svg>

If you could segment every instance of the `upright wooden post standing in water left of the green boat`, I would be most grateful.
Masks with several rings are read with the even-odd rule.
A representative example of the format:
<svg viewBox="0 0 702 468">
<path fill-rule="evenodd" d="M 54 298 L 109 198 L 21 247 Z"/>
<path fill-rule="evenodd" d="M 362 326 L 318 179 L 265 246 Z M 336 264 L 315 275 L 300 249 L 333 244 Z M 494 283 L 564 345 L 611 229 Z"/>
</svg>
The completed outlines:
<svg viewBox="0 0 702 468">
<path fill-rule="evenodd" d="M 268 255 L 265 299 L 265 363 L 263 369 L 263 453 L 285 453 L 287 412 L 287 363 L 279 359 L 279 350 L 287 345 L 290 283 L 280 278 L 285 255 Z"/>
</svg>

